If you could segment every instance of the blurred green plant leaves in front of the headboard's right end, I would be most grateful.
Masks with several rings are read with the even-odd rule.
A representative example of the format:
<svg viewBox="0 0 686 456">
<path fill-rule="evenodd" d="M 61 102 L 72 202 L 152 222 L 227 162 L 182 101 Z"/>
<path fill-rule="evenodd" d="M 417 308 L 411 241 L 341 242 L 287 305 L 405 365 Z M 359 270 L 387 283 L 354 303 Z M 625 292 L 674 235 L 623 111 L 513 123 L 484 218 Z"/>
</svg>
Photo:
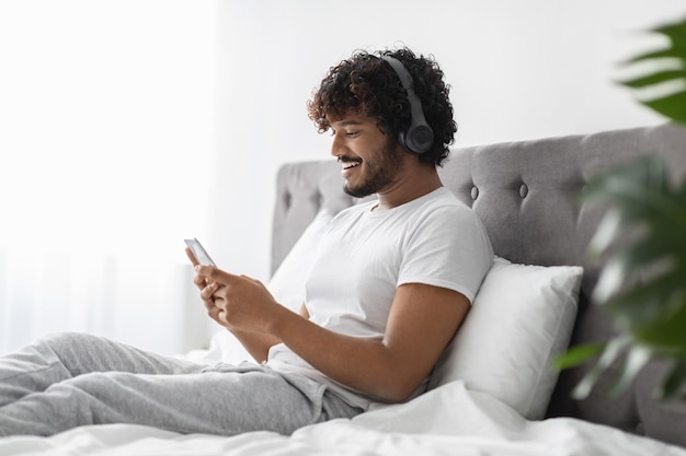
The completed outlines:
<svg viewBox="0 0 686 456">
<path fill-rule="evenodd" d="M 624 68 L 648 66 L 643 75 L 620 81 L 640 103 L 673 122 L 686 125 L 686 17 L 653 28 L 665 48 L 642 54 Z M 686 144 L 684 144 L 686 154 Z M 614 391 L 620 393 L 653 359 L 671 370 L 658 397 L 682 397 L 686 386 L 686 183 L 675 185 L 664 162 L 648 156 L 613 168 L 588 184 L 581 198 L 608 212 L 590 254 L 607 256 L 593 301 L 611 314 L 618 335 L 609 341 L 571 348 L 558 361 L 569 367 L 598 356 L 574 390 L 584 398 L 603 372 L 620 363 Z M 627 236 L 626 248 L 611 249 Z"/>
</svg>

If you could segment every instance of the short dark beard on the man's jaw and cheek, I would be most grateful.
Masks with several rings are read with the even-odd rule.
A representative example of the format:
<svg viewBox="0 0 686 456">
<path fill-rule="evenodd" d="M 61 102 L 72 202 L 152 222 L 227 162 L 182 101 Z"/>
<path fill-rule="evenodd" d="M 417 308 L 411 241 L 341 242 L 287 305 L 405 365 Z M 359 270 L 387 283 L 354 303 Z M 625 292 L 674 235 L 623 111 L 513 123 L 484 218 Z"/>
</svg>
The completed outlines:
<svg viewBox="0 0 686 456">
<path fill-rule="evenodd" d="M 378 194 L 396 182 L 402 171 L 402 152 L 396 142 L 387 139 L 371 156 L 362 163 L 362 173 L 357 183 L 350 180 L 343 186 L 343 190 L 355 198 Z"/>
</svg>

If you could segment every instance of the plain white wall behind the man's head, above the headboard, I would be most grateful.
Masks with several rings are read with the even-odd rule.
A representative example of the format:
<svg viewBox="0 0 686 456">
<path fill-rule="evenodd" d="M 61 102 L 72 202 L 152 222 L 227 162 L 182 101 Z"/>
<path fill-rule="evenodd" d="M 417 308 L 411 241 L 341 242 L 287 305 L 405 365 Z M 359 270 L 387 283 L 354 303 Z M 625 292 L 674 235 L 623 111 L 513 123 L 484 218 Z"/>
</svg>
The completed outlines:
<svg viewBox="0 0 686 456">
<path fill-rule="evenodd" d="M 274 176 L 327 159 L 306 115 L 327 70 L 354 49 L 433 54 L 453 86 L 456 145 L 663 121 L 613 83 L 618 62 L 662 43 L 645 33 L 683 0 L 218 1 L 210 249 L 226 269 L 268 276 Z"/>
</svg>

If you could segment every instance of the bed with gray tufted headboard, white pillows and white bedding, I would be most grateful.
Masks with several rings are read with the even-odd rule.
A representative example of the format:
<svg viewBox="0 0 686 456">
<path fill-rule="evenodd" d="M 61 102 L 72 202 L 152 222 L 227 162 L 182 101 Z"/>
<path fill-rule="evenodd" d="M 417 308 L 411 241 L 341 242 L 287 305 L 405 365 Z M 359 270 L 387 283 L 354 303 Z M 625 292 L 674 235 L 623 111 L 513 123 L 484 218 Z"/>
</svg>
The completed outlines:
<svg viewBox="0 0 686 456">
<path fill-rule="evenodd" d="M 586 246 L 603 209 L 581 204 L 579 194 L 594 174 L 649 153 L 663 156 L 675 179 L 686 176 L 686 130 L 670 124 L 453 151 L 443 182 L 481 218 L 496 258 L 419 398 L 293 435 L 180 435 L 113 424 L 0 439 L 0 455 L 686 456 L 686 405 L 652 399 L 663 363 L 649 364 L 617 398 L 607 393 L 609 372 L 584 400 L 571 390 L 590 365 L 552 369 L 570 343 L 614 334 L 587 297 L 599 265 Z M 285 164 L 276 187 L 268 285 L 295 307 L 321 230 L 357 201 L 342 192 L 331 160 Z M 247 355 L 218 332 L 209 349 L 183 356 L 214 363 Z"/>
</svg>

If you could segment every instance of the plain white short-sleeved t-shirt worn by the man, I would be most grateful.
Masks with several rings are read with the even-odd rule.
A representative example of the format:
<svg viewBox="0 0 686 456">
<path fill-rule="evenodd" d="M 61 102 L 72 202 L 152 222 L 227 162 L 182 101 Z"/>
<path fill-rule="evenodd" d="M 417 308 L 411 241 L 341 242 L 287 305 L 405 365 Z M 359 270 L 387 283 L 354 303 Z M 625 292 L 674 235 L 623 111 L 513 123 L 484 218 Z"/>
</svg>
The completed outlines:
<svg viewBox="0 0 686 456">
<path fill-rule="evenodd" d="M 373 211 L 376 204 L 348 208 L 327 227 L 306 283 L 310 319 L 335 332 L 381 338 L 403 283 L 455 290 L 472 302 L 493 260 L 473 211 L 445 187 L 390 210 Z M 431 303 L 418 302 L 424 304 Z M 272 347 L 267 365 L 323 383 L 364 409 L 374 400 L 330 379 L 283 343 Z"/>
</svg>

